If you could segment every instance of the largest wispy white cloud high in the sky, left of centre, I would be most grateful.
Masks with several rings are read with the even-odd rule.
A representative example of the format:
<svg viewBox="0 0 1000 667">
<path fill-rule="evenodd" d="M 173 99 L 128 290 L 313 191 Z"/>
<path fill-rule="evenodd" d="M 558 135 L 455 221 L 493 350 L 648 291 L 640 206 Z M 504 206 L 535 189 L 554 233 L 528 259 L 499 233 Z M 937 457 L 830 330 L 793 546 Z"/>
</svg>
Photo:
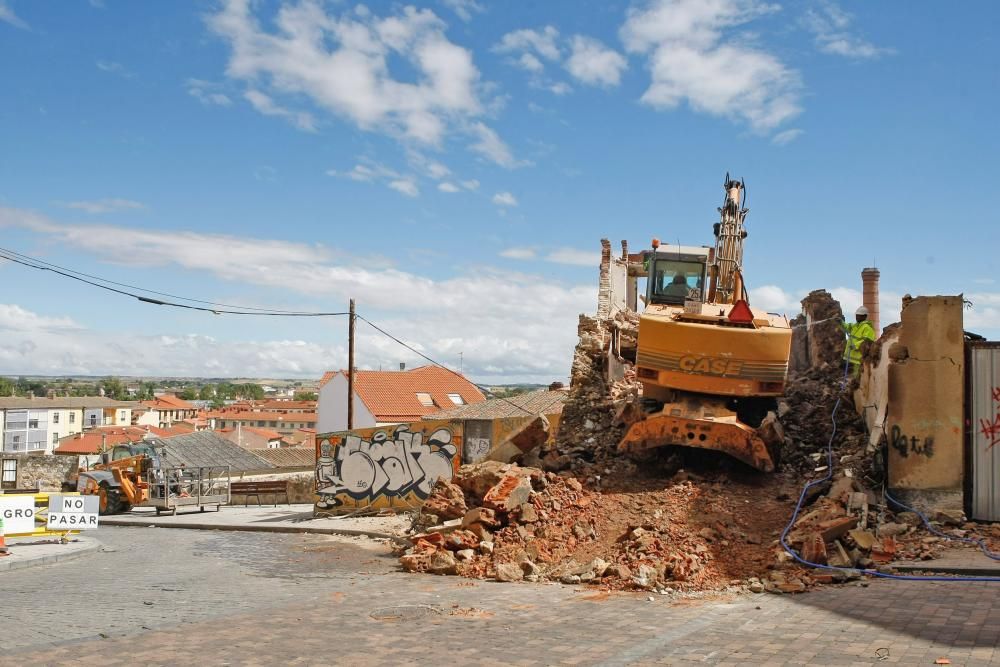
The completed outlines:
<svg viewBox="0 0 1000 667">
<path fill-rule="evenodd" d="M 270 31 L 247 0 L 226 0 L 208 23 L 232 48 L 226 73 L 283 104 L 308 99 L 407 144 L 436 147 L 456 132 L 481 136 L 483 86 L 472 52 L 451 42 L 428 9 L 379 17 L 359 5 L 338 15 L 301 0 L 282 5 Z"/>
</svg>

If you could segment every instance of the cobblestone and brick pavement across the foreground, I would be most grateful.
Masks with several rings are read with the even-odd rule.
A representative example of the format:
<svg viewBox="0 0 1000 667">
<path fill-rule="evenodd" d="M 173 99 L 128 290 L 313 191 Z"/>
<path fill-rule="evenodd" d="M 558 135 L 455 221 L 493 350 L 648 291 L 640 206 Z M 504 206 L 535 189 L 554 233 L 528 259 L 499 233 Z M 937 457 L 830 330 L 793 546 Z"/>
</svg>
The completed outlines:
<svg viewBox="0 0 1000 667">
<path fill-rule="evenodd" d="M 407 575 L 323 536 L 98 537 L 113 551 L 0 573 L 0 664 L 1000 665 L 993 584 L 649 601 Z"/>
</svg>

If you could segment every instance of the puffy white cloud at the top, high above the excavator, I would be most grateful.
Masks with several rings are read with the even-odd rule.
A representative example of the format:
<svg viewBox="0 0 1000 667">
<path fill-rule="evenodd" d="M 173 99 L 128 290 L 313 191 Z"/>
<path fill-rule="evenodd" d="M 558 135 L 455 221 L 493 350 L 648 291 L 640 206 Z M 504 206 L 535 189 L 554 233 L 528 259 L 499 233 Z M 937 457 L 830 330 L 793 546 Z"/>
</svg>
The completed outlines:
<svg viewBox="0 0 1000 667">
<path fill-rule="evenodd" d="M 799 74 L 732 29 L 776 11 L 759 0 L 650 0 L 628 11 L 621 38 L 648 56 L 642 102 L 742 120 L 758 131 L 801 111 Z"/>
</svg>

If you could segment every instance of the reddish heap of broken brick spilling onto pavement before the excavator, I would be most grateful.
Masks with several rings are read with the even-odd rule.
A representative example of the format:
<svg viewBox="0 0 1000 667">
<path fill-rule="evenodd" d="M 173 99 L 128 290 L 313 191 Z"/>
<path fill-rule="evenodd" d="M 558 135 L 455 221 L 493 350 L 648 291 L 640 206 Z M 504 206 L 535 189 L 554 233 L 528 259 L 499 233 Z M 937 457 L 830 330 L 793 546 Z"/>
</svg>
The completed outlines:
<svg viewBox="0 0 1000 667">
<path fill-rule="evenodd" d="M 775 567 L 787 501 L 723 492 L 725 480 L 679 473 L 627 490 L 590 490 L 515 464 L 463 466 L 439 482 L 414 522 L 404 569 L 500 581 L 592 583 L 606 589 L 752 587 Z M 432 508 L 457 507 L 441 521 Z M 753 502 L 751 502 L 753 499 Z"/>
</svg>

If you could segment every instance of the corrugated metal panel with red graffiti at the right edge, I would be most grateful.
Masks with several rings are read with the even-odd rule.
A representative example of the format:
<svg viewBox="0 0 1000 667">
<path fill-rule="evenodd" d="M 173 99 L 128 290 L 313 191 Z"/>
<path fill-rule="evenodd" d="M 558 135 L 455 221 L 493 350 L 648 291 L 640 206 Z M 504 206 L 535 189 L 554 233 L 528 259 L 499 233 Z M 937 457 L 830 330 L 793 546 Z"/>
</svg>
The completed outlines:
<svg viewBox="0 0 1000 667">
<path fill-rule="evenodd" d="M 1000 343 L 969 345 L 972 518 L 1000 521 Z"/>
</svg>

